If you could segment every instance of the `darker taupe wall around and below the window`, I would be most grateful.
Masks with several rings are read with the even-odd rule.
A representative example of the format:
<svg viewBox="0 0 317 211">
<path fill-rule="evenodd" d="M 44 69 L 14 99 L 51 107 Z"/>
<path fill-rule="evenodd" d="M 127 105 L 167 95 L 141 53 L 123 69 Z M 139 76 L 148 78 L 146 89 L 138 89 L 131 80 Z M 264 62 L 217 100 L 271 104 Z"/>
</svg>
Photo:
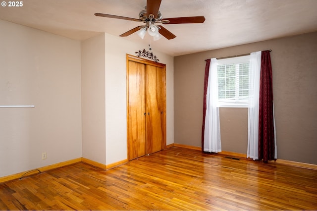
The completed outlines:
<svg viewBox="0 0 317 211">
<path fill-rule="evenodd" d="M 174 142 L 201 146 L 204 61 L 271 49 L 277 156 L 317 164 L 317 32 L 174 58 Z M 247 108 L 220 108 L 223 151 L 246 154 Z"/>
</svg>

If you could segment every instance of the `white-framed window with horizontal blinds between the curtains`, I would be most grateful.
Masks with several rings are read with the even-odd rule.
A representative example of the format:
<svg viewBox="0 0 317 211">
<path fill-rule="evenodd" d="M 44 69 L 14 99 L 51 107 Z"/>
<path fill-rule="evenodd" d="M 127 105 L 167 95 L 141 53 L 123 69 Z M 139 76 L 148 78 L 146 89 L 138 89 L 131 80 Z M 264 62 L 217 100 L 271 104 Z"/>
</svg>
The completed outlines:
<svg viewBox="0 0 317 211">
<path fill-rule="evenodd" d="M 248 107 L 250 55 L 217 59 L 219 107 Z"/>
</svg>

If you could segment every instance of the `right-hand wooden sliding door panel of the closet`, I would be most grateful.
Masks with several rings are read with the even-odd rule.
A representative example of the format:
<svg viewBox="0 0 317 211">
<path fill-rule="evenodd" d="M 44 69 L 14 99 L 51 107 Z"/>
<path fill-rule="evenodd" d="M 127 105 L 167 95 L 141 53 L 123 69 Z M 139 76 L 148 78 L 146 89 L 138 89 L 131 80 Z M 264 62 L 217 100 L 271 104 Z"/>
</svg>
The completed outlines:
<svg viewBox="0 0 317 211">
<path fill-rule="evenodd" d="M 164 143 L 162 68 L 147 65 L 145 90 L 147 153 L 151 154 L 162 150 Z"/>
</svg>

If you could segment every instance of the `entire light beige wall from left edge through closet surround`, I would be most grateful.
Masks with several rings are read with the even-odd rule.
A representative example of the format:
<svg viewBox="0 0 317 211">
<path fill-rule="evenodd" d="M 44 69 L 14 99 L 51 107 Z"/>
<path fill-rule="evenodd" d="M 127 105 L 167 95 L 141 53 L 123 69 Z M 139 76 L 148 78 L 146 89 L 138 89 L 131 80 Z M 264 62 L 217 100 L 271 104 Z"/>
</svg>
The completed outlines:
<svg viewBox="0 0 317 211">
<path fill-rule="evenodd" d="M 127 158 L 126 53 L 148 50 L 100 34 L 75 41 L 0 20 L 0 177 L 74 158 Z M 174 60 L 166 64 L 167 144 L 174 141 Z M 42 152 L 47 159 L 42 160 Z"/>
</svg>

